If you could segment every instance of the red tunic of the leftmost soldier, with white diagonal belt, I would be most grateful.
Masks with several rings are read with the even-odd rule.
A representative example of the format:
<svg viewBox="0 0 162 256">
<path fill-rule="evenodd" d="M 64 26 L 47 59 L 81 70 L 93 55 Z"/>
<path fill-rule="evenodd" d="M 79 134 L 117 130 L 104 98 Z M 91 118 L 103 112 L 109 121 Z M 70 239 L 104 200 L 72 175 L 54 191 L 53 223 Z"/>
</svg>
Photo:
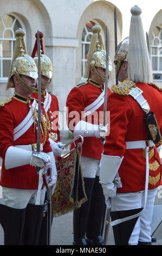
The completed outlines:
<svg viewBox="0 0 162 256">
<path fill-rule="evenodd" d="M 34 131 L 34 123 L 24 134 L 14 141 L 13 132 L 17 125 L 21 124 L 24 118 L 29 113 L 29 105 L 21 102 L 14 97 L 12 100 L 0 107 L 0 156 L 2 162 L 1 185 L 4 187 L 12 188 L 27 188 L 37 189 L 38 187 L 38 174 L 36 168 L 30 164 L 24 166 L 5 169 L 4 158 L 7 149 L 14 145 L 28 145 L 35 144 L 37 141 L 36 132 Z M 44 112 L 44 110 L 42 109 Z M 43 143 L 43 136 L 41 133 L 41 143 Z M 44 144 L 43 151 L 45 153 L 51 152 L 49 143 L 49 135 L 47 133 L 46 143 Z"/>
</svg>

